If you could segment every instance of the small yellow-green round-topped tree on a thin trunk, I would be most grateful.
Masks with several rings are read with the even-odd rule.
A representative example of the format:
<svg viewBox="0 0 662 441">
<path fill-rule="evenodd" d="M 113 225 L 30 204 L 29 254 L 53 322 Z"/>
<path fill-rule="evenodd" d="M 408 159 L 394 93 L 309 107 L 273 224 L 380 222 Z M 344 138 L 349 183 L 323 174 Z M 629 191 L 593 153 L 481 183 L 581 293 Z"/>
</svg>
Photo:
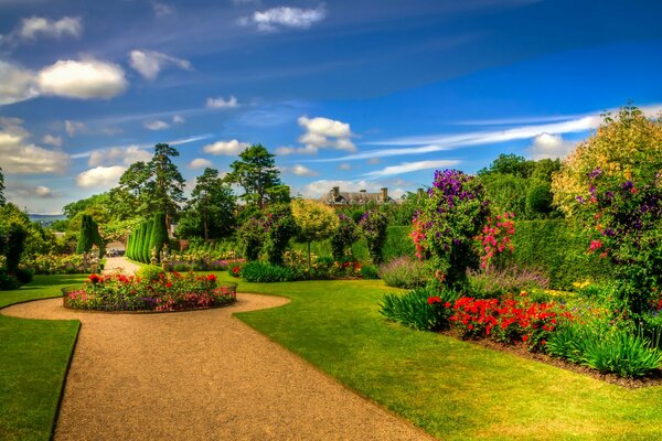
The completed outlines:
<svg viewBox="0 0 662 441">
<path fill-rule="evenodd" d="M 333 208 L 316 201 L 292 201 L 292 217 L 297 224 L 297 239 L 308 245 L 308 270 L 310 271 L 310 243 L 331 237 L 339 220 Z"/>
</svg>

